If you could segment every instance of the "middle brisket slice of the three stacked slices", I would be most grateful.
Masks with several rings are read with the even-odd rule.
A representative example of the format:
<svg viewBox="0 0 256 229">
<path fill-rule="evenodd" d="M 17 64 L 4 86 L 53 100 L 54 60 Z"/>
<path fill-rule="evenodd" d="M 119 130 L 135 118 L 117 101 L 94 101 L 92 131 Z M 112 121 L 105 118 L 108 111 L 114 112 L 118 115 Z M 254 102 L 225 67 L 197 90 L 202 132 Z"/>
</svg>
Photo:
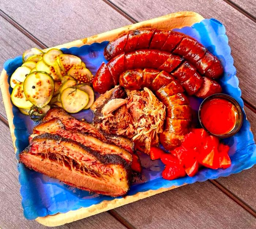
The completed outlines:
<svg viewBox="0 0 256 229">
<path fill-rule="evenodd" d="M 124 150 L 123 148 L 120 148 L 114 144 L 104 143 L 96 137 L 65 129 L 64 124 L 58 118 L 53 118 L 49 121 L 40 123 L 34 127 L 33 133 L 34 134 L 29 137 L 30 141 L 33 139 L 33 137 L 42 133 L 56 134 L 90 147 L 92 150 L 97 151 L 99 154 L 115 154 L 121 156 L 121 158 L 126 160 L 128 164 L 131 164 L 132 162 L 132 155 L 127 150 Z"/>
</svg>

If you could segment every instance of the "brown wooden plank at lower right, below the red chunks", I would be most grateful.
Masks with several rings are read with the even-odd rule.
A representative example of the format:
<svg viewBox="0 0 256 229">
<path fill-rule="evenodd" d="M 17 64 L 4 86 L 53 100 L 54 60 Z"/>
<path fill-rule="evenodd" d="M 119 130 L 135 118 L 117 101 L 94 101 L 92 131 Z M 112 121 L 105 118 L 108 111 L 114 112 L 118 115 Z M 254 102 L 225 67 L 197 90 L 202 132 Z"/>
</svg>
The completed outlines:
<svg viewBox="0 0 256 229">
<path fill-rule="evenodd" d="M 136 211 L 134 210 L 136 209 Z M 255 228 L 256 220 L 210 182 L 160 193 L 116 212 L 136 228 Z"/>
</svg>

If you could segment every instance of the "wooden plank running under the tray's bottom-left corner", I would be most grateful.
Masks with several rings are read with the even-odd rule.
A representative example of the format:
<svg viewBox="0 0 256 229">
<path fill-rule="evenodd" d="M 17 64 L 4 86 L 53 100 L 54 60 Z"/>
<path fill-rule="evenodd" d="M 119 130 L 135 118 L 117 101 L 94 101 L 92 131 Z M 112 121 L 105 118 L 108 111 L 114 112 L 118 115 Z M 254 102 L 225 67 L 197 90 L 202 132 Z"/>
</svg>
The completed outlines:
<svg viewBox="0 0 256 229">
<path fill-rule="evenodd" d="M 17 160 L 13 152 L 10 131 L 7 126 L 0 122 L 0 228 L 45 228 L 35 221 L 26 220 L 23 216 L 21 197 L 19 193 Z M 108 212 L 100 213 L 71 224 L 58 227 L 68 228 L 125 228 Z"/>
</svg>

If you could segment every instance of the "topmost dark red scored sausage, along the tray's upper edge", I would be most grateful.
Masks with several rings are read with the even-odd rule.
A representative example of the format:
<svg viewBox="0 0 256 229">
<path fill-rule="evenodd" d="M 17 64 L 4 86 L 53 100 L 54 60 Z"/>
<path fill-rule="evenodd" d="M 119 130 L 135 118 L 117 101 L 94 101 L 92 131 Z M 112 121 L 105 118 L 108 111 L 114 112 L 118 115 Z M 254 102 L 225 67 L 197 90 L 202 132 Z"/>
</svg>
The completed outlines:
<svg viewBox="0 0 256 229">
<path fill-rule="evenodd" d="M 218 78 L 223 74 L 221 62 L 194 38 L 169 30 L 142 28 L 126 32 L 109 42 L 104 50 L 107 60 L 121 53 L 150 48 L 184 57 L 200 74 Z"/>
</svg>

